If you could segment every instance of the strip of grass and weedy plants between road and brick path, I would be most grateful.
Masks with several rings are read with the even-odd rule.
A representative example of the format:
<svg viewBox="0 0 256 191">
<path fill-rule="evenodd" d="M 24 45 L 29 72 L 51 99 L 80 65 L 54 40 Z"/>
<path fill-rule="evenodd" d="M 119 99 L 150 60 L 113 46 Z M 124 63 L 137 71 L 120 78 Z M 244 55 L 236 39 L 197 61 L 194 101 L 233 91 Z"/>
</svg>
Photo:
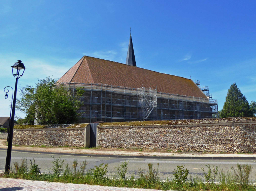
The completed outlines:
<svg viewBox="0 0 256 191">
<path fill-rule="evenodd" d="M 93 169 L 87 169 L 87 162 L 78 164 L 74 160 L 72 166 L 66 164 L 64 159 L 54 158 L 53 167 L 48 173 L 41 173 L 39 165 L 35 160 L 22 159 L 20 163 L 14 162 L 9 174 L 1 174 L 1 177 L 20 178 L 37 181 L 90 184 L 102 186 L 119 186 L 128 188 L 146 188 L 160 190 L 191 190 L 191 191 L 255 191 L 256 186 L 250 181 L 252 167 L 249 165 L 237 164 L 231 171 L 218 170 L 216 166 L 206 165 L 202 168 L 205 181 L 198 177 L 189 176 L 189 170 L 183 166 L 177 166 L 174 176 L 162 180 L 153 164 L 148 164 L 147 170 L 140 169 L 139 177 L 126 177 L 129 161 L 122 162 L 116 167 L 111 176 L 107 176 L 108 164 L 100 164 Z M 217 182 L 217 183 L 216 183 Z"/>
</svg>

